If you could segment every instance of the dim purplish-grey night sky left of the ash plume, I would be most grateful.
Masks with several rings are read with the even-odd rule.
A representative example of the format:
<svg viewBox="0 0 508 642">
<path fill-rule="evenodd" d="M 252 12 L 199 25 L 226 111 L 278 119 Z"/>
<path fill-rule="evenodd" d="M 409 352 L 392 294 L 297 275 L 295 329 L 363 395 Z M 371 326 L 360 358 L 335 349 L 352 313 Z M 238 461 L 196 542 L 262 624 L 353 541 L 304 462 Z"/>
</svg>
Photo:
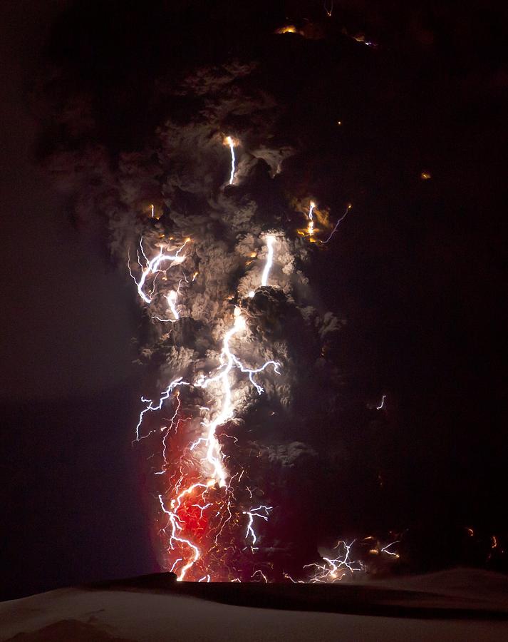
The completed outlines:
<svg viewBox="0 0 508 642">
<path fill-rule="evenodd" d="M 139 392 L 130 288 L 33 162 L 28 96 L 57 11 L 1 9 L 4 598 L 152 569 L 130 448 Z"/>
</svg>

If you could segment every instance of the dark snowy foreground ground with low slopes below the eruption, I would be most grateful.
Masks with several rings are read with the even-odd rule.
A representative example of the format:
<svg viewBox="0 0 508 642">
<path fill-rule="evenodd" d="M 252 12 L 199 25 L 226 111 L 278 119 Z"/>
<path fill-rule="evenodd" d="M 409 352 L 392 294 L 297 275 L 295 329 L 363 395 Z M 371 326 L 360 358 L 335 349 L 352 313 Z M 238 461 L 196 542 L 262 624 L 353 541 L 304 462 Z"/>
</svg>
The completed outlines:
<svg viewBox="0 0 508 642">
<path fill-rule="evenodd" d="M 472 569 L 333 586 L 152 574 L 1 603 L 0 639 L 497 641 L 508 637 L 507 596 L 507 577 Z"/>
</svg>

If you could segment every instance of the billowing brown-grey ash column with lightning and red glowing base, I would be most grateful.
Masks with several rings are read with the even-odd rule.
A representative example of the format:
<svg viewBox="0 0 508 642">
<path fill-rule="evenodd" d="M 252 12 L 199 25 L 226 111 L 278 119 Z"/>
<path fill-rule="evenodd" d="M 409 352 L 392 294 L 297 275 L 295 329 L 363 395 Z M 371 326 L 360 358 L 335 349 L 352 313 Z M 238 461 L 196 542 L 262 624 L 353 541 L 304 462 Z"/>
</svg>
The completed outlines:
<svg viewBox="0 0 508 642">
<path fill-rule="evenodd" d="M 76 215 L 105 218 L 133 279 L 140 361 L 158 372 L 133 443 L 150 465 L 161 564 L 180 579 L 281 579 L 306 561 L 301 491 L 338 403 L 327 354 L 342 322 L 306 276 L 311 199 L 284 180 L 299 150 L 256 74 L 232 61 L 159 81 L 168 108 L 136 151 L 93 136 L 81 97 L 65 112 L 80 144 L 49 161 Z M 327 213 L 314 217 L 327 237 Z"/>
</svg>

